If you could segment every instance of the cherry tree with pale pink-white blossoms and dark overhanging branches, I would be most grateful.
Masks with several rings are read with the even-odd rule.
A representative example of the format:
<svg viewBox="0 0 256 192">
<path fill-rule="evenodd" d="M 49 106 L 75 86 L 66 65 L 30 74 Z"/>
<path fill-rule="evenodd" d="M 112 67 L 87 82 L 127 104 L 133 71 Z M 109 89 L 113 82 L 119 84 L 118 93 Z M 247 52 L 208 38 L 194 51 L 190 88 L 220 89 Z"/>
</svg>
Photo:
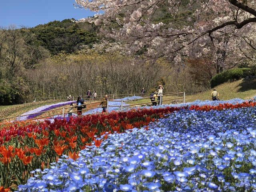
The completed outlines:
<svg viewBox="0 0 256 192">
<path fill-rule="evenodd" d="M 174 18 L 180 8 L 193 10 L 186 18 L 190 25 L 155 22 L 158 9 L 166 3 Z M 210 56 L 217 73 L 225 64 L 231 68 L 244 58 L 253 59 L 253 0 L 76 0 L 76 4 L 100 13 L 81 22 L 110 26 L 114 20 L 119 27 L 108 36 L 128 43 L 131 52 L 146 48 L 147 56 L 170 57 L 175 62 L 180 62 L 182 55 Z"/>
</svg>

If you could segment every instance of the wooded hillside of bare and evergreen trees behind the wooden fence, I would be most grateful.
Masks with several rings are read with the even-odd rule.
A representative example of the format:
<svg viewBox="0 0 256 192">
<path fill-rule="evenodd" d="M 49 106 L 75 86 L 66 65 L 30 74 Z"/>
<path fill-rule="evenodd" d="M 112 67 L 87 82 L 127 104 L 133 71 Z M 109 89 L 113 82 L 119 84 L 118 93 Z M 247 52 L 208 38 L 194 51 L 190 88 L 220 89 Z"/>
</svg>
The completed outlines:
<svg viewBox="0 0 256 192">
<path fill-rule="evenodd" d="M 163 1 L 153 16 L 145 12 L 142 18 L 150 18 L 152 30 L 161 32 L 178 31 L 185 25 L 193 28 L 198 4 L 188 8 L 186 3 L 174 15 L 168 1 Z M 122 32 L 127 11 L 132 10 L 128 6 L 97 25 L 66 19 L 34 28 L 0 28 L 0 105 L 35 97 L 84 95 L 88 89 L 99 95 L 140 93 L 142 87 L 151 92 L 159 83 L 165 92 L 201 91 L 210 88 L 217 73 L 250 65 L 248 57 L 232 62 L 234 56 L 227 52 L 225 65 L 209 53 L 195 57 L 180 51 L 168 53 L 168 46 L 158 53 L 162 45 L 154 36 L 160 33 L 150 39 L 155 45 L 138 42 L 134 48 L 128 33 L 126 40 L 116 33 Z"/>
</svg>

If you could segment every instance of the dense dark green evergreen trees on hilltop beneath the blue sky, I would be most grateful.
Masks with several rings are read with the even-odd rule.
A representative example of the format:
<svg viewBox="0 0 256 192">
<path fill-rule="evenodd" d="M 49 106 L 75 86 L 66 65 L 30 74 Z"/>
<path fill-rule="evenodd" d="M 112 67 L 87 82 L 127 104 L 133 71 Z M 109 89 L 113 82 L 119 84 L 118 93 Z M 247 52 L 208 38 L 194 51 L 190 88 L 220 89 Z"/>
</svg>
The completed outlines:
<svg viewBox="0 0 256 192">
<path fill-rule="evenodd" d="M 89 24 L 78 24 L 71 20 L 62 22 L 53 21 L 44 25 L 31 28 L 30 31 L 36 36 L 44 48 L 48 49 L 52 55 L 61 51 L 73 53 L 80 50 L 82 46 L 91 47 L 98 41 L 96 28 L 85 30 Z M 91 24 L 90 24 L 91 25 Z M 89 27 L 91 29 L 92 26 Z"/>
</svg>

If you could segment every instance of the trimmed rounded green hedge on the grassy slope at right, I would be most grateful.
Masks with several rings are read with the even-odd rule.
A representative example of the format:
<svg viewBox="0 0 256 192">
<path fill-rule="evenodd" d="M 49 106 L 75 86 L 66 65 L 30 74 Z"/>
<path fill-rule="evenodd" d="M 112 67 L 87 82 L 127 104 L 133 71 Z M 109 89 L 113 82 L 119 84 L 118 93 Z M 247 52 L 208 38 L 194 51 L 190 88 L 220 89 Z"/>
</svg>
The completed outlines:
<svg viewBox="0 0 256 192">
<path fill-rule="evenodd" d="M 211 87 L 213 88 L 224 82 L 239 80 L 239 79 L 245 78 L 250 74 L 251 74 L 250 68 L 229 69 L 212 77 L 210 81 Z"/>
</svg>

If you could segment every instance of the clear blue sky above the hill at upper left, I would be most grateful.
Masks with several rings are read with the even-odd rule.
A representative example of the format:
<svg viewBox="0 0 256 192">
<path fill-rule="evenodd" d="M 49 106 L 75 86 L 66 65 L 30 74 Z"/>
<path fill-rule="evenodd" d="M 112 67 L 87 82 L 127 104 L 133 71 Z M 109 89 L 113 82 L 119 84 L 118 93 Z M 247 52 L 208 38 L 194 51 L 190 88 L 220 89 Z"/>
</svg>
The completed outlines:
<svg viewBox="0 0 256 192">
<path fill-rule="evenodd" d="M 0 26 L 35 27 L 54 20 L 78 20 L 95 14 L 76 9 L 74 3 L 74 0 L 0 0 Z"/>
</svg>

